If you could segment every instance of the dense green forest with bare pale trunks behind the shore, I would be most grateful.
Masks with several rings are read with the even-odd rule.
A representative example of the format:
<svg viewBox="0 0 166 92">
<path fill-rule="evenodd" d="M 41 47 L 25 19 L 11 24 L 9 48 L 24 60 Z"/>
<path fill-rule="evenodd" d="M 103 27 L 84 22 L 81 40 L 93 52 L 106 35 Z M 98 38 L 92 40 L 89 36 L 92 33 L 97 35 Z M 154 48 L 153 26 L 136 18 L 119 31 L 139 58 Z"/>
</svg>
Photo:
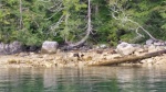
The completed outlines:
<svg viewBox="0 0 166 92">
<path fill-rule="evenodd" d="M 165 0 L 0 0 L 0 42 L 41 46 L 166 41 Z"/>
</svg>

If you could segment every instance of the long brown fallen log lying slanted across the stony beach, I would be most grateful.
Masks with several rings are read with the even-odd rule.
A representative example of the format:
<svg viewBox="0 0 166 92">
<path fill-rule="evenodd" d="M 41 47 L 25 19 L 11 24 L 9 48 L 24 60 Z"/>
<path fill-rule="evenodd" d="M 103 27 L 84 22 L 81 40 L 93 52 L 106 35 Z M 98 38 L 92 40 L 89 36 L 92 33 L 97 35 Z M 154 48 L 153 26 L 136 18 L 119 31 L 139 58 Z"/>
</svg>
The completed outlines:
<svg viewBox="0 0 166 92">
<path fill-rule="evenodd" d="M 151 57 L 155 57 L 155 56 L 160 56 L 163 54 L 166 54 L 166 49 L 164 50 L 159 50 L 159 51 L 155 51 L 155 53 L 149 53 L 149 54 L 145 54 L 142 56 L 124 56 L 117 59 L 111 59 L 111 60 L 101 60 L 101 61 L 96 61 L 93 64 L 89 64 L 89 66 L 112 66 L 112 65 L 118 65 L 118 64 L 124 64 L 124 62 L 137 62 L 139 60 L 146 59 L 146 58 L 151 58 Z"/>
</svg>

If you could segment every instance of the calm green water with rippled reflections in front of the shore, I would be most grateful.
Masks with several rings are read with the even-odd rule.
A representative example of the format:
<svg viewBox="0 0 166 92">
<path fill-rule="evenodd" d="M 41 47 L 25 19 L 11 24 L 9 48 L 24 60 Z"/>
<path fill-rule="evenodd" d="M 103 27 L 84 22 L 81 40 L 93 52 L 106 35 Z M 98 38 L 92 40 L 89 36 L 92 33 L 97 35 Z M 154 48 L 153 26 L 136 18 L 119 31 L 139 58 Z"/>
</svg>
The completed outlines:
<svg viewBox="0 0 166 92">
<path fill-rule="evenodd" d="M 0 68 L 0 92 L 166 92 L 166 68 Z"/>
</svg>

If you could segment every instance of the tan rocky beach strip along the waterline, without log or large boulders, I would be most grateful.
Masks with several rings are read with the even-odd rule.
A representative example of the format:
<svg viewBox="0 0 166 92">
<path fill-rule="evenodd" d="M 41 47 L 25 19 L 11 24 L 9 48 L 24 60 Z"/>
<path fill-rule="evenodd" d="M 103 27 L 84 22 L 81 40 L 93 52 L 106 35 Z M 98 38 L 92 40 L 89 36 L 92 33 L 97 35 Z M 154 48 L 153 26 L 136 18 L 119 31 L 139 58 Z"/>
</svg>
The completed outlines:
<svg viewBox="0 0 166 92">
<path fill-rule="evenodd" d="M 82 57 L 81 57 L 82 56 Z M 60 51 L 56 54 L 35 54 L 35 53 L 20 53 L 14 55 L 1 55 L 0 56 L 0 67 L 1 68 L 27 68 L 27 67 L 86 67 L 92 64 L 105 59 L 115 59 L 123 57 L 120 54 L 114 54 L 113 49 L 104 50 L 90 50 L 90 51 Z M 141 61 L 131 64 L 120 64 L 118 66 L 165 66 L 166 65 L 166 54 L 143 59 Z"/>
</svg>

